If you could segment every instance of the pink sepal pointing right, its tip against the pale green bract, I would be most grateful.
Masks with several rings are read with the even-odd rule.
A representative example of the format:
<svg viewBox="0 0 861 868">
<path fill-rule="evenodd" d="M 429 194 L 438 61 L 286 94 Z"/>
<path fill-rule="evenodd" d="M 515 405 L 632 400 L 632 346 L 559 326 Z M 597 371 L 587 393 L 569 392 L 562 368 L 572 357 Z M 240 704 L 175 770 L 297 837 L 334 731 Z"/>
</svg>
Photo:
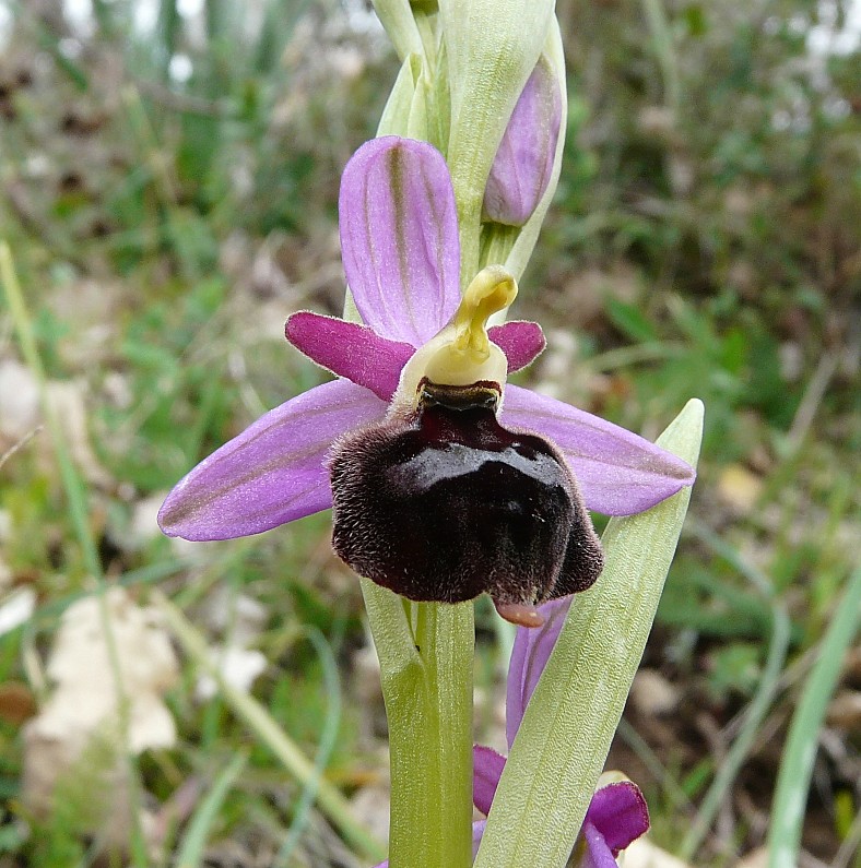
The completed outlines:
<svg viewBox="0 0 861 868">
<path fill-rule="evenodd" d="M 551 439 L 568 460 L 586 506 L 605 515 L 642 512 L 696 476 L 642 437 L 528 389 L 506 388 L 502 423 Z"/>
</svg>

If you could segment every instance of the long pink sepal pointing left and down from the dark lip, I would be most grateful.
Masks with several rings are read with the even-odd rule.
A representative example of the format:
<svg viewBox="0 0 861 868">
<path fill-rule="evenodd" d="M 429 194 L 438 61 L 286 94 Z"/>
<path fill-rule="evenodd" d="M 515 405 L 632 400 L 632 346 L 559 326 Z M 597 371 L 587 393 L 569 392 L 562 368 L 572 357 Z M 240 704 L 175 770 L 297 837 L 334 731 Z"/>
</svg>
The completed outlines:
<svg viewBox="0 0 861 868">
<path fill-rule="evenodd" d="M 168 536 L 232 539 L 328 509 L 332 441 L 385 413 L 382 401 L 349 380 L 318 385 L 198 464 L 167 496 L 158 524 Z"/>
</svg>

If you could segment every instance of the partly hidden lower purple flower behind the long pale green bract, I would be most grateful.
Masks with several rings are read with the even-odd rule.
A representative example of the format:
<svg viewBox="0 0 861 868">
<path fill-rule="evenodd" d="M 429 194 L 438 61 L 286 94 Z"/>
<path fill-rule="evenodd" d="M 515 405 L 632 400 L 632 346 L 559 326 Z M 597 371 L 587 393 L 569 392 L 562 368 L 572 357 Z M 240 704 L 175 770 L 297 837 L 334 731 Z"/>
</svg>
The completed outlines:
<svg viewBox="0 0 861 868">
<path fill-rule="evenodd" d="M 565 623 L 571 597 L 554 599 L 540 607 L 544 623 L 536 630 L 518 628 L 508 667 L 506 692 L 506 740 L 511 749 L 527 704 L 550 658 Z M 473 749 L 473 801 L 490 813 L 506 758 L 492 748 Z M 473 840 L 481 837 L 484 823 L 473 824 Z M 574 848 L 580 868 L 615 868 L 615 857 L 649 829 L 649 811 L 639 787 L 617 773 L 601 776 L 583 819 Z"/>
</svg>

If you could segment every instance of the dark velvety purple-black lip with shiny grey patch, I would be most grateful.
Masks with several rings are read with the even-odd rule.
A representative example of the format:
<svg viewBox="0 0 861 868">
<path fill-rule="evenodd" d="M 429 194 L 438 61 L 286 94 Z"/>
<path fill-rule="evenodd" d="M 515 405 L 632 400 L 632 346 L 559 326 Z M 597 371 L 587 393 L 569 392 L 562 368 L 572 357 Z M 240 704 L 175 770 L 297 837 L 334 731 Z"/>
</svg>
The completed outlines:
<svg viewBox="0 0 861 868">
<path fill-rule="evenodd" d="M 503 428 L 498 400 L 425 383 L 409 418 L 337 444 L 332 545 L 359 575 L 415 601 L 529 605 L 595 581 L 601 544 L 565 460 Z"/>
</svg>

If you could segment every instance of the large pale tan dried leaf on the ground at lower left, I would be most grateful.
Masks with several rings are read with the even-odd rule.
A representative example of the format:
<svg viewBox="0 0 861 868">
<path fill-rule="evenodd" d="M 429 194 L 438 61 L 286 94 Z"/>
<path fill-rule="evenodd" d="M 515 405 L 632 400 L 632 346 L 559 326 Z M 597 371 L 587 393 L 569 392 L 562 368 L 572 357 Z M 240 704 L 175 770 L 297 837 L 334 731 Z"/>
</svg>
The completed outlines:
<svg viewBox="0 0 861 868">
<path fill-rule="evenodd" d="M 116 587 L 104 614 L 90 596 L 62 617 L 47 664 L 54 692 L 24 728 L 22 798 L 36 813 L 74 799 L 79 825 L 125 842 L 132 817 L 125 754 L 175 742 L 162 698 L 178 667 L 155 610 Z"/>
</svg>

